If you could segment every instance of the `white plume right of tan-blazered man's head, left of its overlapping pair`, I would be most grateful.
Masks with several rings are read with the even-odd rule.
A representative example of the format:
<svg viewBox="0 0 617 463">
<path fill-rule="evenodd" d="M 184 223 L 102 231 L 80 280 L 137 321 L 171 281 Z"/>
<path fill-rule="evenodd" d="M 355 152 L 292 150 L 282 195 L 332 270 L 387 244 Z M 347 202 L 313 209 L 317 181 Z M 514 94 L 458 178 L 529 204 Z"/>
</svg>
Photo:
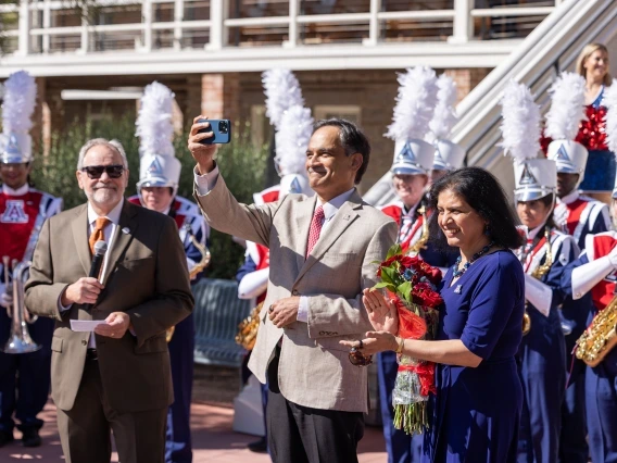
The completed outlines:
<svg viewBox="0 0 617 463">
<path fill-rule="evenodd" d="M 392 124 L 386 137 L 392 140 L 424 139 L 437 104 L 437 77 L 427 66 L 408 68 L 399 75 L 399 96 Z"/>
</svg>

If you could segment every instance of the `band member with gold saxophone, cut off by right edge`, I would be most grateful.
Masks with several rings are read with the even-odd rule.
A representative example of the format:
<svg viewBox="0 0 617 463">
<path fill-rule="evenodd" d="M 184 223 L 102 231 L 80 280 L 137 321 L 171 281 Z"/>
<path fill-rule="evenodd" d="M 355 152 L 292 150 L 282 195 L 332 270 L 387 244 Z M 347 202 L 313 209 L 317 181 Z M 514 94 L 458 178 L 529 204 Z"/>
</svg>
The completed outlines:
<svg viewBox="0 0 617 463">
<path fill-rule="evenodd" d="M 605 95 L 608 108 L 606 133 L 613 152 L 617 149 L 617 88 Z M 617 183 L 613 190 L 617 198 Z M 614 202 L 615 203 L 615 202 Z M 563 276 L 564 285 L 571 288 L 575 299 L 591 299 L 590 325 L 577 342 L 577 358 L 587 363 L 585 405 L 589 430 L 589 451 L 592 461 L 617 461 L 617 349 L 609 341 L 615 333 L 617 311 L 613 303 L 617 281 L 617 233 L 605 232 L 587 237 L 585 250 L 568 265 Z M 608 318 L 607 318 L 608 317 Z M 604 320 L 604 328 L 600 321 Z M 589 345 L 600 347 L 597 352 Z"/>
</svg>

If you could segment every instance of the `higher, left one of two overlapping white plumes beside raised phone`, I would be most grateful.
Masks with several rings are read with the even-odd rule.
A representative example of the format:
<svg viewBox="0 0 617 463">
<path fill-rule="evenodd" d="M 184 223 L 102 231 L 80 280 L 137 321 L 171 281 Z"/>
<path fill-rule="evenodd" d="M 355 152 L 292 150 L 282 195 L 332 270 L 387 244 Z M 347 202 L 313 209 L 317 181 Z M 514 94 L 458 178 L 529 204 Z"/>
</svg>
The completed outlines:
<svg viewBox="0 0 617 463">
<path fill-rule="evenodd" d="M 291 71 L 282 68 L 265 71 L 262 83 L 266 95 L 266 115 L 278 130 L 288 108 L 304 107 L 300 84 Z"/>
</svg>

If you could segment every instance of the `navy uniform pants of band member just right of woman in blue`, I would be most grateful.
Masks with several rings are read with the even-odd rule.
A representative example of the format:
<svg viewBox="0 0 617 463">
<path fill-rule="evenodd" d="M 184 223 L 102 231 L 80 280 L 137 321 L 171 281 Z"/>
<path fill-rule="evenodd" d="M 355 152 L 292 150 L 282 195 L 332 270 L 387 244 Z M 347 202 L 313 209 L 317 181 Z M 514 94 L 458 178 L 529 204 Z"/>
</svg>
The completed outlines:
<svg viewBox="0 0 617 463">
<path fill-rule="evenodd" d="M 519 463 L 556 463 L 566 389 L 566 343 L 556 310 L 529 308 L 531 330 L 519 347 L 522 413 Z"/>
</svg>

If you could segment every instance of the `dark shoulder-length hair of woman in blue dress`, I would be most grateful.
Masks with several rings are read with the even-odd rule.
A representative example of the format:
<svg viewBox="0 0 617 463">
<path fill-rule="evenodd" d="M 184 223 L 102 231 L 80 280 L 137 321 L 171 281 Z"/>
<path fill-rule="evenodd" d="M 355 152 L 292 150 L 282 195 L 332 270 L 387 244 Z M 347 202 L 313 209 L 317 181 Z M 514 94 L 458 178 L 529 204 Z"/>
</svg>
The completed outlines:
<svg viewBox="0 0 617 463">
<path fill-rule="evenodd" d="M 429 209 L 435 211 L 429 220 L 430 236 L 441 247 L 448 247 L 445 235 L 439 227 L 437 200 L 442 191 L 451 190 L 465 200 L 488 222 L 487 234 L 495 245 L 515 249 L 522 245 L 516 229 L 518 218 L 499 180 L 480 167 L 463 167 L 451 172 L 432 184 L 429 192 Z"/>
</svg>

